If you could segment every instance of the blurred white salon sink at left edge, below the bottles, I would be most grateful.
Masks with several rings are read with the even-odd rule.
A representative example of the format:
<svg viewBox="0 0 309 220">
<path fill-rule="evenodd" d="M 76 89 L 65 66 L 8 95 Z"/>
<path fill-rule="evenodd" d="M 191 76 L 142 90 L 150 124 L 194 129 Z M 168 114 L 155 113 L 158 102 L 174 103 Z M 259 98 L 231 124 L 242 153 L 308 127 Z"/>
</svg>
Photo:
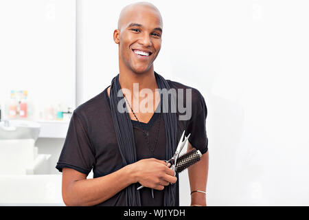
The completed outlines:
<svg viewBox="0 0 309 220">
<path fill-rule="evenodd" d="M 36 139 L 41 125 L 27 120 L 4 120 L 0 122 L 0 139 Z"/>
</svg>

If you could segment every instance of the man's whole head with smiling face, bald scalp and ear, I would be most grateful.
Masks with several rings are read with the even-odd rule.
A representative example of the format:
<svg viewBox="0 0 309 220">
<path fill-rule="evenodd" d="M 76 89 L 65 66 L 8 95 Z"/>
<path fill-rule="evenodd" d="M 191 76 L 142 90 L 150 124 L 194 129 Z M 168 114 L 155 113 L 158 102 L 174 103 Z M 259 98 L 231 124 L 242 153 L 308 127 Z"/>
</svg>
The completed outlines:
<svg viewBox="0 0 309 220">
<path fill-rule="evenodd" d="M 161 14 L 149 5 L 131 5 L 119 18 L 114 41 L 119 44 L 119 69 L 136 74 L 153 71 L 161 49 Z"/>
</svg>

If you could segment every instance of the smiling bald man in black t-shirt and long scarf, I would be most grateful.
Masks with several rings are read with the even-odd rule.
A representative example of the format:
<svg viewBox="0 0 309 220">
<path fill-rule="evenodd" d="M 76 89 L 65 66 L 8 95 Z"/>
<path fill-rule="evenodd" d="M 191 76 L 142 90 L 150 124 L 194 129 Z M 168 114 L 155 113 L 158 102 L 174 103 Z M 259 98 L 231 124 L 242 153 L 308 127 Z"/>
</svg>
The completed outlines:
<svg viewBox="0 0 309 220">
<path fill-rule="evenodd" d="M 177 144 L 184 129 L 186 136 L 191 133 L 188 151 L 197 148 L 203 154 L 201 161 L 188 168 L 191 205 L 206 206 L 205 100 L 197 89 L 164 80 L 155 73 L 153 62 L 161 49 L 162 29 L 161 14 L 150 3 L 134 3 L 120 13 L 113 34 L 119 45 L 119 75 L 111 86 L 74 111 L 56 166 L 62 171 L 62 197 L 67 206 L 179 206 L 178 175 L 175 177 L 171 164 L 167 166 L 164 160 L 174 153 L 170 150 L 175 145 L 171 133 L 175 131 Z M 177 112 L 176 129 L 166 125 L 169 114 L 156 111 L 162 103 L 160 82 L 174 89 L 192 89 L 192 117 L 179 120 Z M 126 102 L 131 125 L 127 128 L 133 129 L 132 135 L 124 134 L 128 130 L 124 129 L 126 120 L 119 120 L 124 114 L 117 113 L 117 105 L 113 105 L 117 99 L 111 91 L 116 91 L 117 85 Z M 140 109 L 143 89 L 152 91 L 151 101 L 146 103 L 150 112 Z M 132 162 L 128 162 L 128 148 L 133 149 Z M 87 179 L 91 169 L 93 179 Z M 136 190 L 141 185 L 145 187 Z"/>
</svg>

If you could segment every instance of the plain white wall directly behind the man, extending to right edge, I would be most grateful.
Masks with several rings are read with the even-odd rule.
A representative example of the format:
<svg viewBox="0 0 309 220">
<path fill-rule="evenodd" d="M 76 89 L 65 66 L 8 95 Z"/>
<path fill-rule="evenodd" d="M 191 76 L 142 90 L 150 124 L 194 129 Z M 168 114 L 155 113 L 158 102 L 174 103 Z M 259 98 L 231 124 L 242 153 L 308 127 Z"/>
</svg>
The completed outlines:
<svg viewBox="0 0 309 220">
<path fill-rule="evenodd" d="M 77 2 L 81 104 L 118 74 L 113 30 L 133 1 Z M 155 70 L 207 102 L 209 206 L 308 206 L 308 1 L 150 2 L 164 23 Z"/>
</svg>

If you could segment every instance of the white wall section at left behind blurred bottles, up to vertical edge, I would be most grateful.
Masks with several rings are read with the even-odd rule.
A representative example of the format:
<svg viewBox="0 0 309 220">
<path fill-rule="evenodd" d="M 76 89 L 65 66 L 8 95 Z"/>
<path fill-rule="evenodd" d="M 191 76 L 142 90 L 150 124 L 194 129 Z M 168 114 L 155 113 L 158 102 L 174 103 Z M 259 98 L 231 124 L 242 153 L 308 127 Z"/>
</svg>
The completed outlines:
<svg viewBox="0 0 309 220">
<path fill-rule="evenodd" d="M 75 108 L 76 1 L 0 1 L 0 27 L 2 117 L 11 90 L 27 90 L 27 120 L 51 104 Z"/>
</svg>

